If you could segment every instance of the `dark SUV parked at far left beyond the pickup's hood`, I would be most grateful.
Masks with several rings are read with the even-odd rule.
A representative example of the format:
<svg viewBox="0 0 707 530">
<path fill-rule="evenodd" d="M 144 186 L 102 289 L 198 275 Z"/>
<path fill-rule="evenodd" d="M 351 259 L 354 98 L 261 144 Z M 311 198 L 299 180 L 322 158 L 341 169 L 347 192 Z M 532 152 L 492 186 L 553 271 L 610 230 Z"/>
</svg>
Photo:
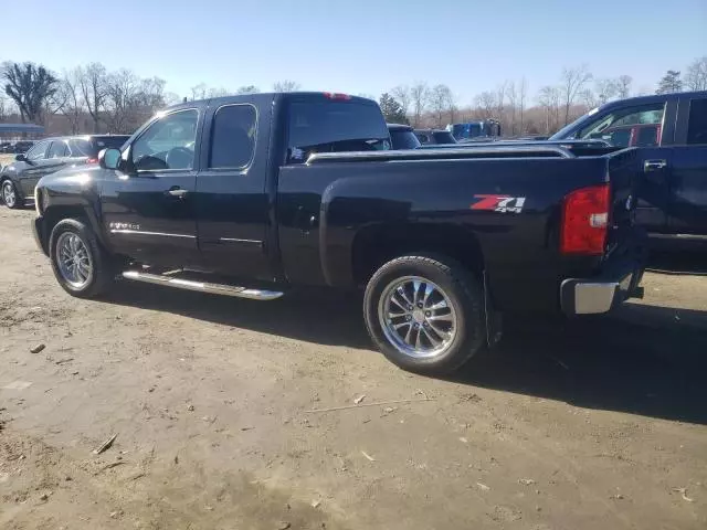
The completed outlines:
<svg viewBox="0 0 707 530">
<path fill-rule="evenodd" d="M 45 174 L 65 167 L 96 163 L 102 149 L 120 147 L 128 138 L 126 135 L 93 135 L 41 140 L 0 171 L 2 201 L 8 208 L 24 205 L 34 199 L 34 186 Z"/>
</svg>

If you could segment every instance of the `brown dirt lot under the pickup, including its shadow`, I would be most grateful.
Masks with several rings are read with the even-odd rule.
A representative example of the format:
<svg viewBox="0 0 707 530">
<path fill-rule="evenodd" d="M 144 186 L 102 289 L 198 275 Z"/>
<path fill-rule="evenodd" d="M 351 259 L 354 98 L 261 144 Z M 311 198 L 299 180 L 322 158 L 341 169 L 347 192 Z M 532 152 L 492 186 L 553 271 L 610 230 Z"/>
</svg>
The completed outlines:
<svg viewBox="0 0 707 530">
<path fill-rule="evenodd" d="M 697 273 L 511 320 L 444 381 L 371 351 L 357 299 L 73 299 L 0 212 L 0 528 L 707 528 Z"/>
</svg>

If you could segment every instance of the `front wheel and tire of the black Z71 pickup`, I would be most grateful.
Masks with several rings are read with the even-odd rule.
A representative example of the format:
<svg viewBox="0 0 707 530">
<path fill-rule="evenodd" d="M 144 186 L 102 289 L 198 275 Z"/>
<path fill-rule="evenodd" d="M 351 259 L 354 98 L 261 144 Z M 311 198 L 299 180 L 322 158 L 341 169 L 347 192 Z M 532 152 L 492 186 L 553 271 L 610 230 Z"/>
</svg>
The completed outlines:
<svg viewBox="0 0 707 530">
<path fill-rule="evenodd" d="M 70 295 L 94 298 L 113 285 L 115 269 L 110 256 L 84 222 L 76 219 L 60 221 L 52 230 L 49 244 L 54 276 Z M 68 259 L 70 264 L 66 265 L 66 257 L 71 255 L 77 257 Z M 60 263 L 61 257 L 64 257 L 63 263 Z"/>
</svg>

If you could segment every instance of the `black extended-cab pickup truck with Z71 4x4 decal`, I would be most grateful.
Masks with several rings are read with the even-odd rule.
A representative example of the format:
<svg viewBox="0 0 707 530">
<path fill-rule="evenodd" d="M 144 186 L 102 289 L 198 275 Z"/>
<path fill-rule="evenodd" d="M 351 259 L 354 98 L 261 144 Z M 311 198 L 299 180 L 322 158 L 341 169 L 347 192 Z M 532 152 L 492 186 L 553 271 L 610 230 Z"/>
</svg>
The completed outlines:
<svg viewBox="0 0 707 530">
<path fill-rule="evenodd" d="M 33 230 L 78 297 L 119 275 L 260 300 L 362 288 L 376 344 L 428 373 L 494 343 L 502 311 L 599 314 L 640 293 L 634 150 L 389 147 L 358 97 L 184 103 L 99 166 L 44 177 Z"/>
</svg>

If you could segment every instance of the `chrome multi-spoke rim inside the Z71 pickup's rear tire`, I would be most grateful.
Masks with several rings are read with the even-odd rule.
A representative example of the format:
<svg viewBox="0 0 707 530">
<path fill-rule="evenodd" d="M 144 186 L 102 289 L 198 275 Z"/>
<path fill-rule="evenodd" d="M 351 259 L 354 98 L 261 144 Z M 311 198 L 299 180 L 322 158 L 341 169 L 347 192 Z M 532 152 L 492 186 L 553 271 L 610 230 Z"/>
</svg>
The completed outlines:
<svg viewBox="0 0 707 530">
<path fill-rule="evenodd" d="M 451 298 L 421 276 L 404 276 L 388 284 L 378 304 L 378 318 L 390 343 L 416 359 L 444 353 L 457 331 L 457 311 Z"/>
</svg>

